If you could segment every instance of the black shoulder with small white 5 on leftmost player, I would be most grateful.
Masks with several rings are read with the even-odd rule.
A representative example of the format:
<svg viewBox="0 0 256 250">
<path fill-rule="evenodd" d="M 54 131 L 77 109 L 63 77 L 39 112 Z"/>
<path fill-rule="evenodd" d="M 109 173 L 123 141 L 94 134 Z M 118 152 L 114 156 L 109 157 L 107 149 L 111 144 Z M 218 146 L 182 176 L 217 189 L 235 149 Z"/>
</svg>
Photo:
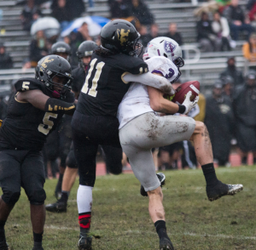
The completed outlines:
<svg viewBox="0 0 256 250">
<path fill-rule="evenodd" d="M 38 81 L 35 78 L 20 78 L 15 83 L 15 88 L 17 92 L 24 92 L 27 90 L 39 89 L 44 91 L 45 85 L 43 82 Z"/>
</svg>

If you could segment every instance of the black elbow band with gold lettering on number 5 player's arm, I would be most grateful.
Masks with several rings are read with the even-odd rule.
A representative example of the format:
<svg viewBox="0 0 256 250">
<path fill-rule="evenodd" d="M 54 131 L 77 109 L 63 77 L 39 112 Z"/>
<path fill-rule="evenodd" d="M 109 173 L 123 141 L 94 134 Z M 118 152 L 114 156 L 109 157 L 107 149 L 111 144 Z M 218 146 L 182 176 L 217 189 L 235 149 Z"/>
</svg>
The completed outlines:
<svg viewBox="0 0 256 250">
<path fill-rule="evenodd" d="M 76 106 L 73 103 L 68 103 L 55 98 L 49 98 L 44 106 L 45 112 L 51 112 L 60 115 L 67 114 L 72 116 L 75 110 Z"/>
</svg>

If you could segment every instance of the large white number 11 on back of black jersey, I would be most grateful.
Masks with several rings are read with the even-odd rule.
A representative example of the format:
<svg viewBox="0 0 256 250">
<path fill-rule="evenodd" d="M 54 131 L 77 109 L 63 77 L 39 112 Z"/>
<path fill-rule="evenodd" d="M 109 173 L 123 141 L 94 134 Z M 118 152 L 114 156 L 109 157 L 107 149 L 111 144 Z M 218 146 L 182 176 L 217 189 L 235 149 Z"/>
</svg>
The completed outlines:
<svg viewBox="0 0 256 250">
<path fill-rule="evenodd" d="M 95 58 L 94 60 L 90 61 L 90 69 L 88 71 L 87 77 L 85 78 L 84 86 L 81 90 L 84 94 L 87 94 L 87 92 L 89 90 L 88 94 L 93 96 L 93 97 L 96 97 L 96 95 L 97 95 L 96 88 L 97 88 L 98 81 L 99 81 L 99 79 L 101 77 L 101 74 L 102 74 L 102 68 L 105 65 L 105 63 L 103 63 L 103 62 L 100 62 L 100 63 L 96 64 L 96 60 L 97 59 Z M 96 65 L 96 73 L 95 73 L 94 78 L 92 79 L 91 88 L 88 88 L 88 82 L 89 82 L 89 79 L 90 79 L 90 76 L 91 76 L 91 72 L 93 71 L 95 65 Z"/>
</svg>

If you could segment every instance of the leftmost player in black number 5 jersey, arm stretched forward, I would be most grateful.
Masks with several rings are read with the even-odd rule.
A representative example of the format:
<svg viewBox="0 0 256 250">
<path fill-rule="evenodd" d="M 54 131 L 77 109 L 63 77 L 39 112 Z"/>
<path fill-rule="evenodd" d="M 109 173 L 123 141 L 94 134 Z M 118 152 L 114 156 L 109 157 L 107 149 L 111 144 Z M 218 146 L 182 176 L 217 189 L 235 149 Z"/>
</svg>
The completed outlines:
<svg viewBox="0 0 256 250">
<path fill-rule="evenodd" d="M 18 202 L 20 187 L 30 202 L 33 250 L 42 250 L 45 221 L 44 162 L 47 136 L 64 114 L 73 115 L 71 66 L 57 55 L 38 62 L 35 78 L 20 78 L 0 129 L 0 249 L 9 249 L 4 224 Z"/>
</svg>

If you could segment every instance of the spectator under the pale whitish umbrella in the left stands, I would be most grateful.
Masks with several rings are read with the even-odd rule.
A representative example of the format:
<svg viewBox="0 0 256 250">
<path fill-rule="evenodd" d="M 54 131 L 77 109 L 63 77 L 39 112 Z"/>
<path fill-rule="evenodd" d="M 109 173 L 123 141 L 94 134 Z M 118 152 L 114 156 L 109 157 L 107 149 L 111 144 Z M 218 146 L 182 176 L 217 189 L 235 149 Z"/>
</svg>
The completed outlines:
<svg viewBox="0 0 256 250">
<path fill-rule="evenodd" d="M 41 60 L 48 54 L 48 48 L 44 37 L 44 31 L 38 31 L 36 39 L 30 43 L 30 60 L 32 67 L 38 65 L 38 60 Z"/>
</svg>

